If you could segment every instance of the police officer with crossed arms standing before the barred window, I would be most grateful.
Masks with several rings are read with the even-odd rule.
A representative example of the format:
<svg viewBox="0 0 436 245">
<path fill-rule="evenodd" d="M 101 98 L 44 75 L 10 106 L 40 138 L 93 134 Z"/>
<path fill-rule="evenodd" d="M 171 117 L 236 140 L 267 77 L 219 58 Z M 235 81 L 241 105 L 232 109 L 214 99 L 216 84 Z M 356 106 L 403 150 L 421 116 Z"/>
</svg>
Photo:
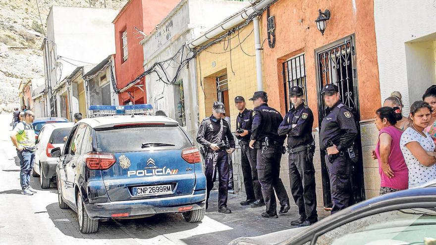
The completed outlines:
<svg viewBox="0 0 436 245">
<path fill-rule="evenodd" d="M 309 226 L 318 221 L 317 196 L 315 191 L 315 168 L 313 165 L 312 126 L 313 113 L 303 103 L 303 89 L 292 87 L 289 91 L 292 108 L 278 127 L 279 135 L 287 135 L 289 153 L 289 182 L 300 218 L 293 226 Z"/>
</svg>

